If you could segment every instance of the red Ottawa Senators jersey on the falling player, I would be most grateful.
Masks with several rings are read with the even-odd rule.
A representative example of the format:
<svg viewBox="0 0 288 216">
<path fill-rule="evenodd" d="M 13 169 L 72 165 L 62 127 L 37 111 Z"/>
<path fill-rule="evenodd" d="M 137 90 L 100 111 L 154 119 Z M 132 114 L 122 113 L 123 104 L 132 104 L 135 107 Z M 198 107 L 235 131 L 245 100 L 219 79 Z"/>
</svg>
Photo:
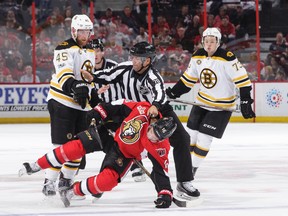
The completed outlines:
<svg viewBox="0 0 288 216">
<path fill-rule="evenodd" d="M 151 106 L 148 102 L 134 102 L 120 99 L 111 103 L 98 104 L 94 109 L 99 112 L 101 119 L 109 121 L 121 115 L 124 120 L 116 130 L 114 140 L 126 158 L 141 160 L 144 150 L 158 161 L 165 172 L 168 172 L 168 154 L 170 144 L 168 139 L 152 143 L 147 138 L 149 119 L 147 111 Z"/>
</svg>

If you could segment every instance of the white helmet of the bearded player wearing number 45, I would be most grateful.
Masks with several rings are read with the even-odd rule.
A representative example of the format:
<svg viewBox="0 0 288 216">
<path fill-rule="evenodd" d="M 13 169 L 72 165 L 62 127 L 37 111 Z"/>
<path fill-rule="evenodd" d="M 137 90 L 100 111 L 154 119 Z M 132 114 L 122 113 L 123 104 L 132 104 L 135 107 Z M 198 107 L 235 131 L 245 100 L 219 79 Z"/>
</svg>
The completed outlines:
<svg viewBox="0 0 288 216">
<path fill-rule="evenodd" d="M 93 35 L 93 23 L 91 22 L 90 18 L 85 14 L 77 14 L 73 16 L 71 22 L 71 35 L 74 41 L 77 38 L 77 31 L 79 29 L 90 30 L 90 35 Z"/>
</svg>

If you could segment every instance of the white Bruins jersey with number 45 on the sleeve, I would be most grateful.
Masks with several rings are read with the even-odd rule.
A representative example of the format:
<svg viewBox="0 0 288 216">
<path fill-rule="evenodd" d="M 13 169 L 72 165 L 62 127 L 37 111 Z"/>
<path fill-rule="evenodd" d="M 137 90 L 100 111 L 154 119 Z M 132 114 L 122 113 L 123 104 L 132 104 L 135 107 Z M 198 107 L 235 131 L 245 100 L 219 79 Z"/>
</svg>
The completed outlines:
<svg viewBox="0 0 288 216">
<path fill-rule="evenodd" d="M 72 38 L 59 44 L 54 51 L 53 63 L 55 74 L 53 74 L 50 82 L 47 101 L 54 99 L 67 107 L 83 110 L 81 106 L 73 100 L 73 95 L 63 90 L 63 85 L 71 77 L 76 80 L 84 80 L 81 76 L 80 69 L 92 73 L 94 62 L 94 50 L 85 47 L 80 48 Z M 91 92 L 92 85 L 88 84 L 88 86 Z M 87 101 L 84 110 L 88 111 L 90 109 L 91 107 Z"/>
</svg>

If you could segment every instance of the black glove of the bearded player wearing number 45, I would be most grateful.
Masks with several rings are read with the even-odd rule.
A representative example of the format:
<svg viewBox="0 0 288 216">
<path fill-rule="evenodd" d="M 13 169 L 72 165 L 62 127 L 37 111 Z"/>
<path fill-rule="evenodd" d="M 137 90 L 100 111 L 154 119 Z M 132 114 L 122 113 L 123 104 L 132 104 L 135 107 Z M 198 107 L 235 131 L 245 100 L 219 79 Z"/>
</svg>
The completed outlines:
<svg viewBox="0 0 288 216">
<path fill-rule="evenodd" d="M 87 99 L 89 99 L 89 88 L 83 81 L 75 80 L 72 84 L 73 99 L 85 109 Z"/>
</svg>

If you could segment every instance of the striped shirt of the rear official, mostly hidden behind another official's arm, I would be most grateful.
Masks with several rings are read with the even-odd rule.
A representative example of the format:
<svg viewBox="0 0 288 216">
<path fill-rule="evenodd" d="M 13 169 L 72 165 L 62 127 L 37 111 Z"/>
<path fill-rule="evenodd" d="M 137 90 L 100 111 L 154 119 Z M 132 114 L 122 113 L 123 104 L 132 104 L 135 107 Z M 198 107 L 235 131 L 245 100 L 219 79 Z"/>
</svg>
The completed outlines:
<svg viewBox="0 0 288 216">
<path fill-rule="evenodd" d="M 115 67 L 117 65 L 117 62 L 111 60 L 111 59 L 105 59 L 103 58 L 103 64 L 102 67 L 99 69 L 95 69 L 94 68 L 94 74 L 97 75 L 98 71 L 102 71 L 104 69 L 111 69 L 113 67 Z M 98 90 L 100 89 L 103 84 L 101 83 L 94 83 L 95 88 Z M 122 99 L 123 98 L 123 93 L 120 87 L 119 83 L 110 83 L 109 84 L 110 87 L 107 91 L 105 91 L 104 93 L 102 93 L 101 95 L 99 95 L 99 97 L 104 101 L 104 102 L 111 102 L 114 100 L 118 100 L 118 99 Z"/>
</svg>

